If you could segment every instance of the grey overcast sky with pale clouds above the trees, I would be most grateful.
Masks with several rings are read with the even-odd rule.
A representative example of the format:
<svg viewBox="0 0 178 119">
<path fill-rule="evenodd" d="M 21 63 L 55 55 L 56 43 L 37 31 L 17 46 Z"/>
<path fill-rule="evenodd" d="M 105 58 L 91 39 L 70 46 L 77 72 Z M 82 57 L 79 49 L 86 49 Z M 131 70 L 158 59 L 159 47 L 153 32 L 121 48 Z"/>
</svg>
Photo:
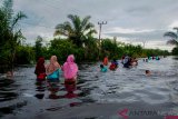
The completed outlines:
<svg viewBox="0 0 178 119">
<path fill-rule="evenodd" d="M 178 27 L 178 0 L 14 0 L 14 11 L 23 11 L 28 19 L 20 27 L 27 42 L 37 36 L 52 38 L 55 27 L 68 20 L 68 14 L 91 16 L 101 37 L 117 37 L 120 41 L 142 42 L 147 47 L 168 48 L 164 32 Z M 152 44 L 154 43 L 154 44 Z"/>
</svg>

